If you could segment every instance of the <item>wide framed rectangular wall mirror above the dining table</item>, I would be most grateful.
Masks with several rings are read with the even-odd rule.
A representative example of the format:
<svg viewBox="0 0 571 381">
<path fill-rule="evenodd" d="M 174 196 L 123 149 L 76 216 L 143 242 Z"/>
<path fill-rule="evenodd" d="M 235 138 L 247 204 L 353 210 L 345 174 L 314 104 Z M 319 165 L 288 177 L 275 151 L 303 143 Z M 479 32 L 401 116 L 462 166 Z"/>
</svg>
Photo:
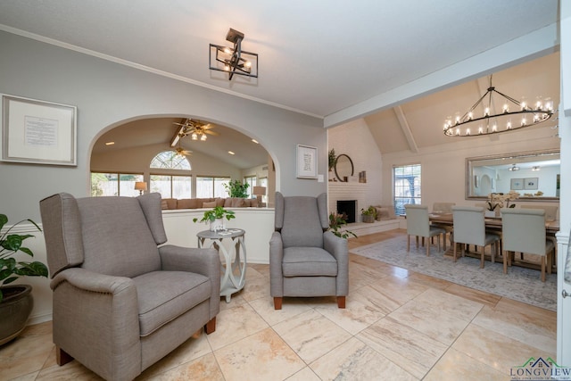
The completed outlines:
<svg viewBox="0 0 571 381">
<path fill-rule="evenodd" d="M 559 150 L 466 159 L 466 199 L 519 193 L 518 201 L 559 201 Z"/>
</svg>

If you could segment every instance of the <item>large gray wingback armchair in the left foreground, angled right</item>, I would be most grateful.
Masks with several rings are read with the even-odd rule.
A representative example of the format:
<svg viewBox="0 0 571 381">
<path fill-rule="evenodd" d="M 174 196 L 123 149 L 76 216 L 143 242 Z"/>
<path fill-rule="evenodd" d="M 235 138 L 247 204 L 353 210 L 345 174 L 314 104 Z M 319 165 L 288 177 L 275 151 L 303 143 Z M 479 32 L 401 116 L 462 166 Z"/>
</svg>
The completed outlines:
<svg viewBox="0 0 571 381">
<path fill-rule="evenodd" d="M 219 255 L 159 246 L 161 195 L 62 193 L 40 211 L 59 365 L 75 358 L 105 379 L 133 379 L 198 329 L 214 332 Z"/>
</svg>

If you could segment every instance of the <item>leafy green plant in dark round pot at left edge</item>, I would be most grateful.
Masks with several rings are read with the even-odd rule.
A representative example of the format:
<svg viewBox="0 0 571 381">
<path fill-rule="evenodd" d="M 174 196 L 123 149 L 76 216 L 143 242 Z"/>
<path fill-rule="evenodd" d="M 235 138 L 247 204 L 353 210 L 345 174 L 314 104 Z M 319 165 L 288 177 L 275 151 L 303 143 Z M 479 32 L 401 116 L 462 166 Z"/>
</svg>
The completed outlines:
<svg viewBox="0 0 571 381">
<path fill-rule="evenodd" d="M 16 261 L 14 258 L 20 252 L 26 253 L 30 257 L 34 256 L 28 247 L 21 245 L 25 239 L 33 236 L 10 234 L 12 228 L 23 222 L 30 222 L 38 231 L 42 231 L 33 220 L 22 219 L 12 225 L 11 228 L 0 233 L 0 345 L 20 335 L 26 327 L 29 314 L 34 306 L 31 294 L 32 286 L 5 285 L 11 284 L 19 277 L 47 277 L 47 267 L 44 263 Z M 0 232 L 7 223 L 8 217 L 5 214 L 0 214 Z"/>
</svg>

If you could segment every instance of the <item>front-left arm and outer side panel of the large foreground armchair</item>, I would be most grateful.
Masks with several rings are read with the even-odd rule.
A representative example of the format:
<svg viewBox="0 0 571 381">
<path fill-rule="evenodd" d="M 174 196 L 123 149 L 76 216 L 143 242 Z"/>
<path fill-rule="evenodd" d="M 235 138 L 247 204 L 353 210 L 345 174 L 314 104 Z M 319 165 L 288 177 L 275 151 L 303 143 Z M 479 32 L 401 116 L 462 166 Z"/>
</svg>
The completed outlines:
<svg viewBox="0 0 571 381">
<path fill-rule="evenodd" d="M 137 289 L 128 277 L 64 269 L 52 280 L 54 344 L 107 379 L 141 372 Z"/>
</svg>

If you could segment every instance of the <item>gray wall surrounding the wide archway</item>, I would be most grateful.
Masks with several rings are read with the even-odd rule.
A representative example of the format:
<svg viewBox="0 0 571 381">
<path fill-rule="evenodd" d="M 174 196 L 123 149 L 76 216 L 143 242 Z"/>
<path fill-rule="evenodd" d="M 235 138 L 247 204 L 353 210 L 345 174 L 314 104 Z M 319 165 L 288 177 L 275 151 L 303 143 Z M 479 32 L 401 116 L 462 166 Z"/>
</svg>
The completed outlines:
<svg viewBox="0 0 571 381">
<path fill-rule="evenodd" d="M 318 147 L 327 177 L 323 121 L 132 69 L 0 31 L 0 93 L 78 107 L 78 166 L 0 162 L 0 212 L 39 219 L 38 201 L 57 192 L 89 195 L 91 148 L 104 131 L 141 117 L 195 115 L 257 139 L 276 164 L 276 189 L 319 195 L 325 182 L 295 178 L 295 146 Z M 165 57 L 165 59 L 171 59 Z M 260 79 L 263 80 L 263 79 Z"/>
</svg>

